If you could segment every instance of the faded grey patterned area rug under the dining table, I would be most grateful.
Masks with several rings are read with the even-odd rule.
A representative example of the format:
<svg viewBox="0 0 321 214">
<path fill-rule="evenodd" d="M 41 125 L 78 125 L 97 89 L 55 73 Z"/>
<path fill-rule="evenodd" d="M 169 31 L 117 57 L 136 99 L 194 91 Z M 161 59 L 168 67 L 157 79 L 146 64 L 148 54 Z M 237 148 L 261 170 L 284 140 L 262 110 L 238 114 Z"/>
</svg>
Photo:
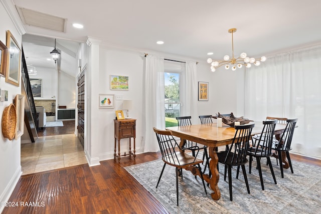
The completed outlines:
<svg viewBox="0 0 321 214">
<path fill-rule="evenodd" d="M 189 171 L 183 171 L 183 180 L 179 179 L 179 206 L 176 201 L 175 167 L 167 165 L 162 179 L 156 188 L 158 176 L 164 162 L 150 161 L 131 165 L 125 169 L 170 213 L 321 213 L 321 168 L 292 161 L 294 174 L 284 169 L 281 178 L 280 168 L 272 158 L 277 184 L 266 159 L 261 160 L 264 188 L 262 190 L 256 161 L 252 163 L 252 173 L 248 176 L 250 194 L 247 193 L 242 170 L 236 179 L 236 167 L 232 169 L 233 201 L 230 201 L 228 178 L 224 181 L 224 165 L 220 166 L 219 188 L 221 198 L 211 198 L 212 190 L 207 187 L 205 194 L 200 177 Z"/>
</svg>

